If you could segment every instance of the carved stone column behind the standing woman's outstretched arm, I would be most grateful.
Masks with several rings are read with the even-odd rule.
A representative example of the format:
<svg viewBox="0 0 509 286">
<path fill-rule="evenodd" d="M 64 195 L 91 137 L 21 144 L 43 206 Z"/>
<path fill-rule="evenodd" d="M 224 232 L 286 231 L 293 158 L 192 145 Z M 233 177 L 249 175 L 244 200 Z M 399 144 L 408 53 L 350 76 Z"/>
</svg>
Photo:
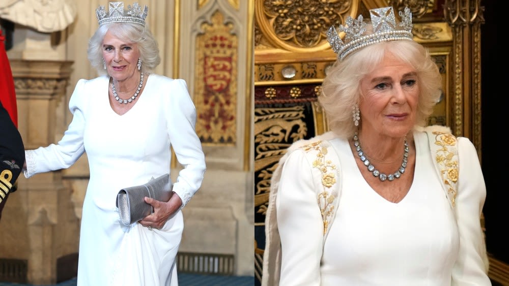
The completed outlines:
<svg viewBox="0 0 509 286">
<path fill-rule="evenodd" d="M 71 61 L 12 59 L 18 128 L 25 149 L 55 143 L 56 106 L 65 96 Z M 58 137 L 58 136 L 56 136 Z M 79 218 L 61 171 L 20 176 L 0 224 L 0 258 L 26 261 L 26 281 L 54 284 L 76 275 Z M 67 261 L 65 267 L 59 261 Z M 69 267 L 70 266 L 70 267 Z"/>
</svg>

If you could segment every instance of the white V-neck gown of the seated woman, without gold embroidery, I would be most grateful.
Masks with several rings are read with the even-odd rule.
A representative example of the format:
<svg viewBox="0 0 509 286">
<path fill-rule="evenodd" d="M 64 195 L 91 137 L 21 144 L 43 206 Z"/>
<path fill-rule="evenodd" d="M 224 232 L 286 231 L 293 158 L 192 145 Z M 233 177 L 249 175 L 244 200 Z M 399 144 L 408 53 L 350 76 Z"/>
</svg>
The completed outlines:
<svg viewBox="0 0 509 286">
<path fill-rule="evenodd" d="M 414 139 L 414 179 L 399 203 L 367 184 L 348 141 L 329 141 L 340 158 L 342 193 L 325 244 L 313 162 L 301 150 L 290 154 L 276 196 L 279 285 L 491 285 L 479 236 L 486 189 L 472 143 L 458 138 L 457 221 L 427 135 L 416 132 Z"/>
</svg>

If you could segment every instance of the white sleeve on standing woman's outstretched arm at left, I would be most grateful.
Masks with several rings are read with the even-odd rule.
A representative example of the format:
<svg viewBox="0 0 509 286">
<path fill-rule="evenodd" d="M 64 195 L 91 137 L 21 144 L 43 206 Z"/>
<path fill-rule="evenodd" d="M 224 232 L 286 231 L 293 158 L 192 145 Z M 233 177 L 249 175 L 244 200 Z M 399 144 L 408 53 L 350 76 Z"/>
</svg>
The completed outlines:
<svg viewBox="0 0 509 286">
<path fill-rule="evenodd" d="M 57 144 L 25 151 L 26 169 L 23 170 L 23 174 L 26 178 L 38 173 L 69 168 L 84 153 L 83 113 L 87 105 L 86 82 L 80 79 L 76 83 L 69 101 L 69 110 L 73 115 L 72 121 L 62 139 Z"/>
</svg>

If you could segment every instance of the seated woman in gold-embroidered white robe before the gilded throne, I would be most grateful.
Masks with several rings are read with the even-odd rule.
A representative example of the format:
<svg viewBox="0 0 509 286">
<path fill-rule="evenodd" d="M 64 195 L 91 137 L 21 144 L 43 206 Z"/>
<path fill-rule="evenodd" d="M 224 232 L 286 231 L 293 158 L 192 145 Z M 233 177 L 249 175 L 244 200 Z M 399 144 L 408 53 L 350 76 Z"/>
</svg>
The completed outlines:
<svg viewBox="0 0 509 286">
<path fill-rule="evenodd" d="M 273 174 L 262 284 L 491 285 L 475 148 L 425 128 L 441 78 L 409 9 L 400 25 L 391 7 L 370 12 L 340 26 L 345 42 L 329 30 L 332 131 L 294 143 Z"/>
</svg>

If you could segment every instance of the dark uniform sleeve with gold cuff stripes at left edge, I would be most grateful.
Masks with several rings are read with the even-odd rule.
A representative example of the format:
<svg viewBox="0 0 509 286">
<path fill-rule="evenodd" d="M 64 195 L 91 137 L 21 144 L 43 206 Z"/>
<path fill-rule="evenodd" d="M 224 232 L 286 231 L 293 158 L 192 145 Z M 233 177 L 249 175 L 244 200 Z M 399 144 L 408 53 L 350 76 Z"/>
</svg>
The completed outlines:
<svg viewBox="0 0 509 286">
<path fill-rule="evenodd" d="M 0 102 L 0 217 L 25 162 L 21 135 Z"/>
</svg>

